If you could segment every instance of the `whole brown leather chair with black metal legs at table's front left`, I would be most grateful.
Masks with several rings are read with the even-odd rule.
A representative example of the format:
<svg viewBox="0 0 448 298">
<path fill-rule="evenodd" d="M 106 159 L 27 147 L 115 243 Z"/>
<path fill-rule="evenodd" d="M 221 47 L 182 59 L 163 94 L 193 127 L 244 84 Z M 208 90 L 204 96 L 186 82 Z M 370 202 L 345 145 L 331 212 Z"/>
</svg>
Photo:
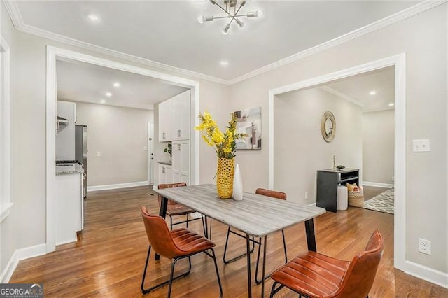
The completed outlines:
<svg viewBox="0 0 448 298">
<path fill-rule="evenodd" d="M 219 278 L 218 264 L 216 264 L 216 256 L 214 251 L 215 243 L 209 241 L 209 239 L 190 231 L 186 228 L 169 230 L 165 219 L 159 215 L 149 215 L 145 206 L 141 207 L 141 216 L 144 220 L 146 236 L 148 236 L 149 247 L 148 255 L 146 256 L 146 264 L 141 279 L 141 292 L 144 294 L 151 292 L 155 288 L 159 288 L 162 285 L 169 284 L 168 297 L 171 296 L 172 283 L 174 280 L 187 276 L 191 271 L 191 259 L 192 255 L 197 253 L 205 253 L 214 260 L 216 276 L 218 278 L 220 297 L 223 297 L 223 287 L 221 285 L 221 279 Z M 171 266 L 171 274 L 169 280 L 158 285 L 154 285 L 151 288 L 144 288 L 146 271 L 148 269 L 149 255 L 151 254 L 151 247 L 154 248 L 155 253 L 168 259 L 173 259 Z M 210 250 L 209 253 L 207 250 Z M 174 266 L 176 262 L 188 257 L 188 271 L 179 276 L 174 277 Z"/>
</svg>

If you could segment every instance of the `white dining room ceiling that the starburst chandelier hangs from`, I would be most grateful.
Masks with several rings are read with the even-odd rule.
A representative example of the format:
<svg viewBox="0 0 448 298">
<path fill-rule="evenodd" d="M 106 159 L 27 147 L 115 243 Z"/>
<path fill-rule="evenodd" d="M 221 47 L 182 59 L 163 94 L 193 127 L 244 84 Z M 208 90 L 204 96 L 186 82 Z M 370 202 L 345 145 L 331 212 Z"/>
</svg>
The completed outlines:
<svg viewBox="0 0 448 298">
<path fill-rule="evenodd" d="M 248 1 L 241 12 L 262 9 L 265 16 L 245 17 L 243 28 L 232 24 L 224 35 L 225 20 L 197 22 L 199 15 L 222 15 L 207 0 L 15 1 L 24 26 L 38 34 L 66 36 L 219 80 L 244 76 L 416 3 Z M 100 20 L 89 20 L 91 13 Z"/>
</svg>

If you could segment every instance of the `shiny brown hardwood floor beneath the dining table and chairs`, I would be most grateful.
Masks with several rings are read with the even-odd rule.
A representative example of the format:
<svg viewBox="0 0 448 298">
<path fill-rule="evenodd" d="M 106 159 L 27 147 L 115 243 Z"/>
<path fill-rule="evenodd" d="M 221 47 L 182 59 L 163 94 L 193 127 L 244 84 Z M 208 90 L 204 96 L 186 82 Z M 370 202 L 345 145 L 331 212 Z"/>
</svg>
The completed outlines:
<svg viewBox="0 0 448 298">
<path fill-rule="evenodd" d="M 20 261 L 10 283 L 43 283 L 45 297 L 166 297 L 166 286 L 148 295 L 140 292 L 148 249 L 140 215 L 142 205 L 158 213 L 157 196 L 149 187 L 90 192 L 85 201 L 85 230 L 79 241 L 58 246 L 53 253 Z M 314 224 L 318 251 L 344 260 L 351 260 L 362 251 L 373 230 L 380 230 L 385 250 L 370 297 L 448 297 L 448 289 L 393 269 L 393 215 L 349 207 L 348 211 L 325 213 Z M 202 233 L 200 220 L 190 228 Z M 246 259 L 225 266 L 222 262 L 226 228 L 213 222 L 212 241 L 216 243 L 224 296 L 246 297 Z M 303 225 L 285 232 L 290 258 L 307 249 Z M 283 262 L 281 233 L 268 236 L 267 241 L 269 272 Z M 244 249 L 243 239 L 232 238 L 229 256 Z M 255 257 L 251 260 L 255 271 Z M 172 297 L 218 297 L 213 261 L 201 254 L 193 257 L 192 263 L 191 274 L 174 282 Z M 169 260 L 161 258 L 156 262 L 151 257 L 149 266 L 148 283 L 167 278 Z M 176 268 L 185 269 L 186 262 L 179 262 Z M 271 286 L 268 279 L 265 297 L 269 297 Z M 260 297 L 260 287 L 253 285 L 254 297 Z M 275 297 L 297 295 L 282 290 Z"/>
</svg>

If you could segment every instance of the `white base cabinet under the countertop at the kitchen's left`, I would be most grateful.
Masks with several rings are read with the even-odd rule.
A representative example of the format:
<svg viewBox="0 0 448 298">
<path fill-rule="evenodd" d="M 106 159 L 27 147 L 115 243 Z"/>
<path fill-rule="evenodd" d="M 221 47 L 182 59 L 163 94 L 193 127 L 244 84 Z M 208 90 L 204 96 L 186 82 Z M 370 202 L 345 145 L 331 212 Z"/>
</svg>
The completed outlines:
<svg viewBox="0 0 448 298">
<path fill-rule="evenodd" d="M 56 175 L 55 243 L 77 241 L 76 232 L 83 229 L 83 173 Z"/>
</svg>

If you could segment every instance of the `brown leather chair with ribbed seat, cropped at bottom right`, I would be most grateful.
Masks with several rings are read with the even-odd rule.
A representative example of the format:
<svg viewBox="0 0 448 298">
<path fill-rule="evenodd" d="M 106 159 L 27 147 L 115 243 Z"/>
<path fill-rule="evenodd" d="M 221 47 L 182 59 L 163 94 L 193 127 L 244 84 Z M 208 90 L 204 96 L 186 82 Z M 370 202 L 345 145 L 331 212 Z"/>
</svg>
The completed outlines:
<svg viewBox="0 0 448 298">
<path fill-rule="evenodd" d="M 368 297 L 383 250 L 383 238 L 376 230 L 365 251 L 351 262 L 312 251 L 302 253 L 272 274 L 270 297 L 283 286 L 300 297 Z"/>
</svg>

